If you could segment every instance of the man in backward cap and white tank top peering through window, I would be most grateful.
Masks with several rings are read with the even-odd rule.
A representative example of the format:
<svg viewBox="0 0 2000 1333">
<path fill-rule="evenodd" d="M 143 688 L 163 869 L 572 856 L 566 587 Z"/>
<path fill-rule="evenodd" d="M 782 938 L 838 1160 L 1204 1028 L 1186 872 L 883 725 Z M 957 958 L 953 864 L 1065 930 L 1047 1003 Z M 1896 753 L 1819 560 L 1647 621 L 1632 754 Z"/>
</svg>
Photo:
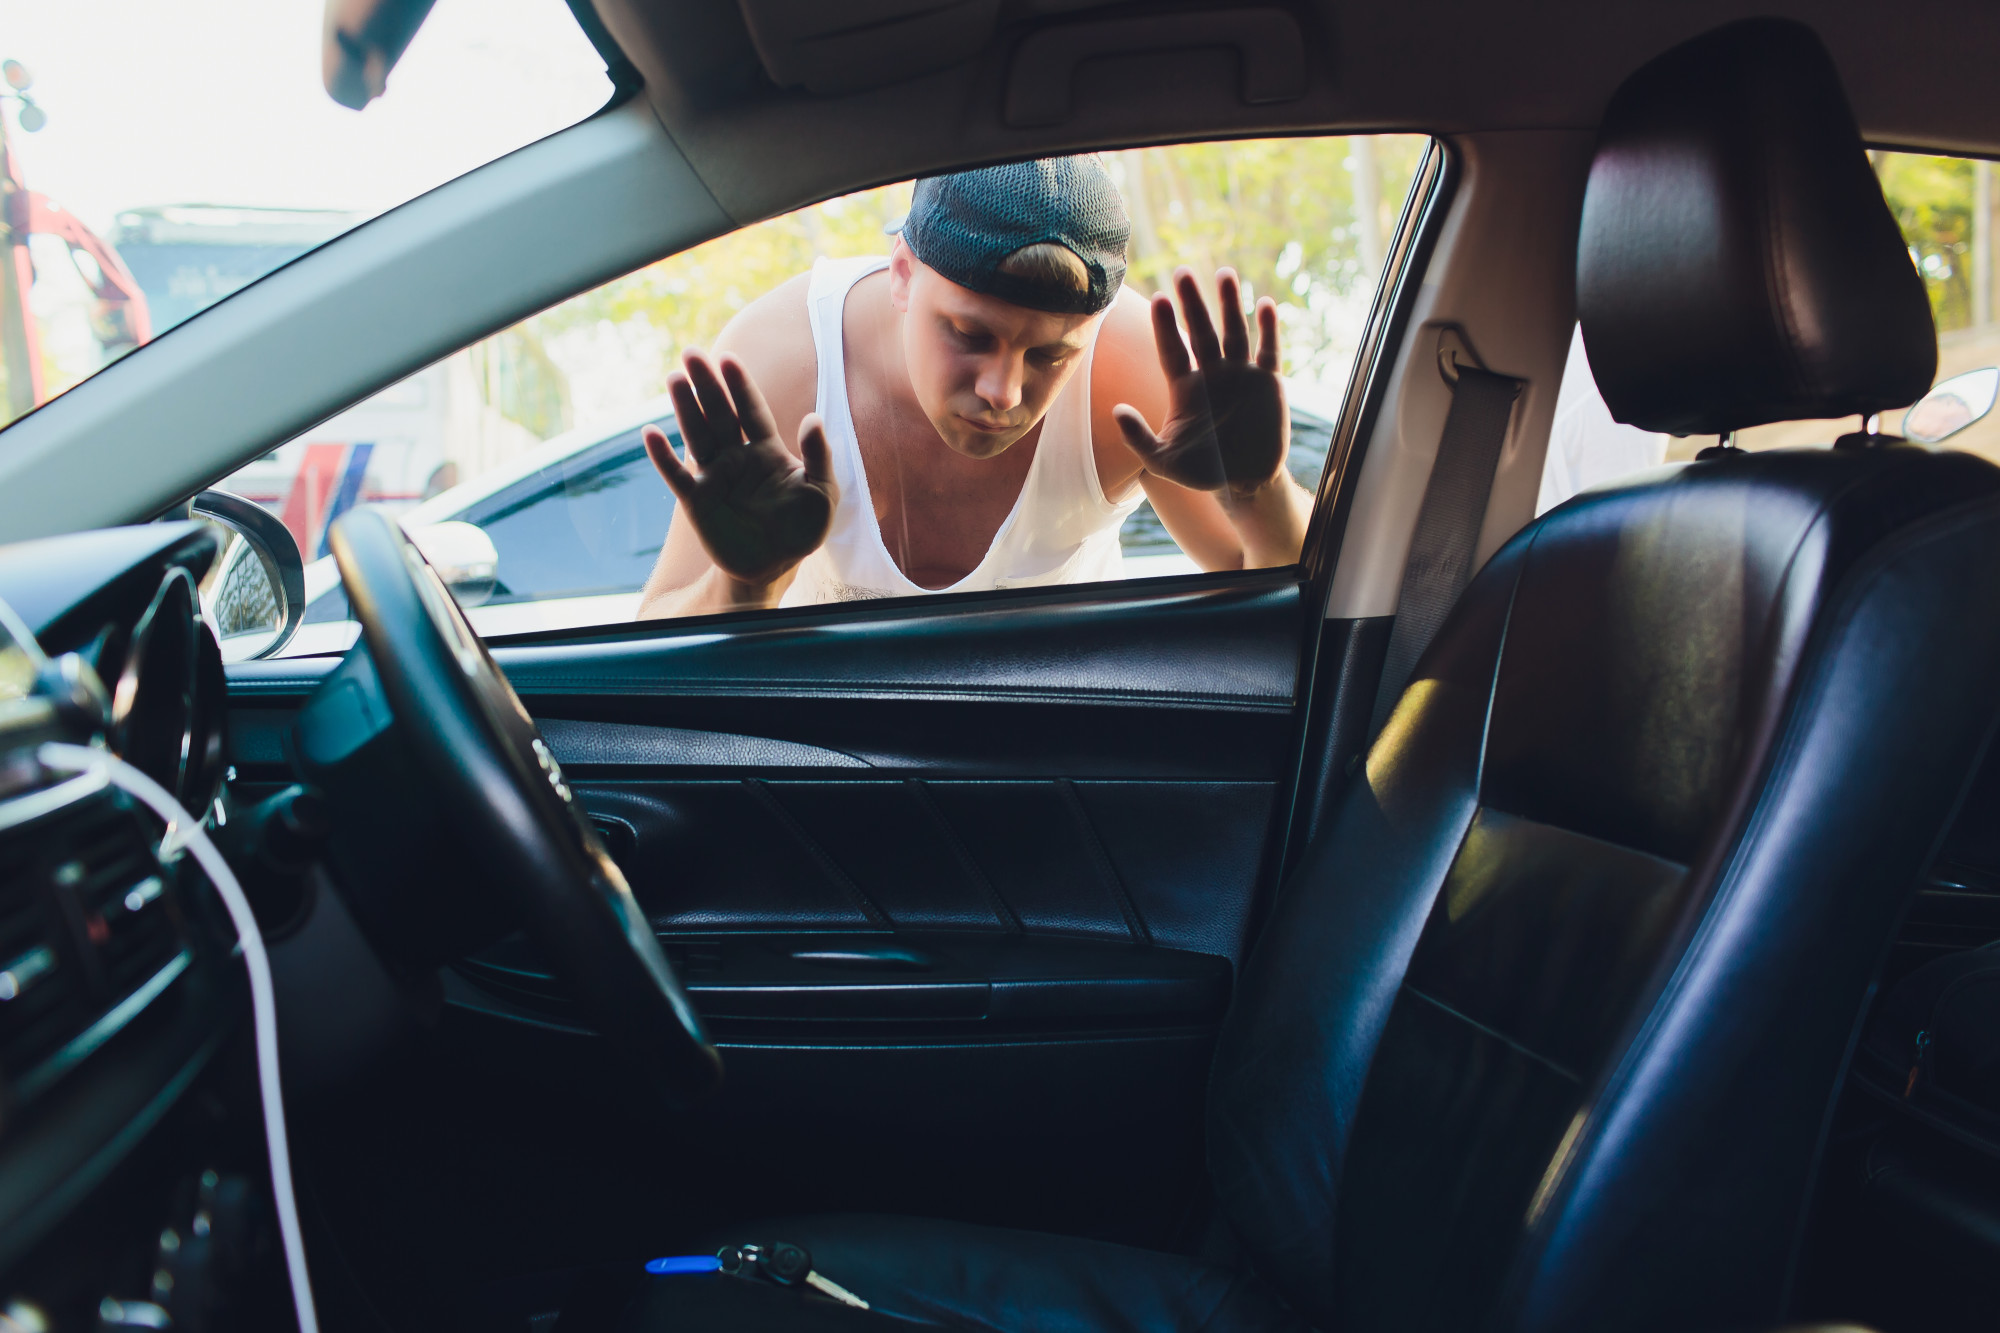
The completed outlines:
<svg viewBox="0 0 2000 1333">
<path fill-rule="evenodd" d="M 746 306 L 668 380 L 690 460 L 646 428 L 680 504 L 640 616 L 1116 578 L 1140 498 L 1202 568 L 1296 560 L 1276 306 L 1252 358 L 1236 274 L 1218 330 L 1182 268 L 1190 358 L 1128 236 L 1094 158 L 934 176 L 886 260 Z"/>
</svg>

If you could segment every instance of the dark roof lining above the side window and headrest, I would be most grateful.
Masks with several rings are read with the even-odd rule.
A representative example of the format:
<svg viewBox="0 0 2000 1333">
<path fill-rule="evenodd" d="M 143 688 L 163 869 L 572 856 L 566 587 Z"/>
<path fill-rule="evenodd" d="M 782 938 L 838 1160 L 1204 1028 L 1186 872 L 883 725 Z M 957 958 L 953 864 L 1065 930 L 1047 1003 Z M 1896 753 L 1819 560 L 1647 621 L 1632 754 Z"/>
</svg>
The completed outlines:
<svg viewBox="0 0 2000 1333">
<path fill-rule="evenodd" d="M 896 14 L 984 8 L 994 16 L 992 36 L 960 64 L 832 94 L 780 88 L 764 68 L 744 12 L 784 8 L 772 0 L 596 0 L 596 8 L 642 72 L 662 124 L 738 222 L 928 170 L 1078 148 L 1592 128 L 1612 90 L 1648 58 L 1766 14 L 1800 18 L 1822 34 L 1872 142 L 2000 154 L 2000 98 L 1988 92 L 1986 68 L 1986 52 L 2000 48 L 2000 6 L 1978 0 L 1646 0 L 1620 6 L 1616 22 L 1592 0 L 1448 10 L 1386 0 L 1272 4 L 1304 38 L 1302 96 L 1246 106 L 1236 54 L 1220 46 L 1114 52 L 1078 66 L 1066 120 L 1036 128 L 1010 126 L 1002 112 L 1028 34 L 1104 20 L 1142 34 L 1190 6 L 870 0 L 858 8 L 878 16 L 890 54 Z"/>
</svg>

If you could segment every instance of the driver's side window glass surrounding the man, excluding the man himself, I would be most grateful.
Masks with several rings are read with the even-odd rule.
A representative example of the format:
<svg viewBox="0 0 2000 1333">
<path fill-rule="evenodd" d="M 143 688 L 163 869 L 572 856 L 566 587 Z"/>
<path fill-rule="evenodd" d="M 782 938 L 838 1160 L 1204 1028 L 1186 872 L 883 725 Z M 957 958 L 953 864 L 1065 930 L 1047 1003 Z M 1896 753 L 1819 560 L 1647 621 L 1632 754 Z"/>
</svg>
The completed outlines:
<svg viewBox="0 0 2000 1333">
<path fill-rule="evenodd" d="M 1250 300 L 1278 302 L 1284 470 L 1308 508 L 1384 240 L 1426 146 L 1422 136 L 1286 138 L 1100 158 L 1130 218 L 1126 288 L 1168 290 L 1186 264 L 1214 304 L 1214 272 L 1232 266 Z M 394 506 L 412 532 L 480 528 L 494 578 L 454 590 L 482 634 L 630 620 L 676 512 L 640 426 L 660 424 L 686 454 L 668 372 L 818 260 L 886 256 L 910 198 L 904 182 L 828 200 L 616 278 L 382 390 L 226 484 L 274 508 L 308 558 L 324 556 L 326 526 L 358 502 Z M 1150 328 L 1144 352 L 1156 366 Z M 1182 548 L 1152 498 L 1136 494 L 1128 508 L 1104 534 L 1110 554 L 1076 566 L 1082 574 L 1056 568 L 994 586 L 1202 572 L 1200 552 Z M 876 526 L 884 544 L 898 536 L 894 514 Z M 346 622 L 334 580 L 330 562 L 308 570 L 308 626 Z M 342 646 L 328 634 L 306 634 L 294 650 Z"/>
</svg>

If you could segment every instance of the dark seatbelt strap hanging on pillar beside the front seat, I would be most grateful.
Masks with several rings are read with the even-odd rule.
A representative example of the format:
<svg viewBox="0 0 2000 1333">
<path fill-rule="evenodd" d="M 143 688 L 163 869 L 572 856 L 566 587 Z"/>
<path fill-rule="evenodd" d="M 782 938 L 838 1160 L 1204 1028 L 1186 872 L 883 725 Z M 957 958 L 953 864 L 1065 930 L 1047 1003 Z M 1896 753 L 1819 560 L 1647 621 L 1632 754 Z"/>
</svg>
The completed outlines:
<svg viewBox="0 0 2000 1333">
<path fill-rule="evenodd" d="M 1438 458 L 1430 464 L 1424 504 L 1416 510 L 1410 560 L 1402 566 L 1396 626 L 1388 632 L 1388 658 L 1382 662 L 1368 735 L 1382 731 L 1416 671 L 1416 658 L 1424 656 L 1472 578 L 1472 550 L 1486 522 L 1486 496 L 1494 486 L 1500 444 L 1520 386 L 1520 380 L 1506 374 L 1458 364 L 1452 410 L 1444 416 Z"/>
</svg>

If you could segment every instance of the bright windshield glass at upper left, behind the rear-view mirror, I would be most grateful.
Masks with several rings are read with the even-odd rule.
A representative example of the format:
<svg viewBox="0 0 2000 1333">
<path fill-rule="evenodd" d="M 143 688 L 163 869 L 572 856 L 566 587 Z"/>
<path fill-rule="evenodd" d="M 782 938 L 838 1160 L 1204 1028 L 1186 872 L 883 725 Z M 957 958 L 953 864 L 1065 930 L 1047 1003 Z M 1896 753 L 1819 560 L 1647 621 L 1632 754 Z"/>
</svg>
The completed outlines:
<svg viewBox="0 0 2000 1333">
<path fill-rule="evenodd" d="M 438 0 L 366 110 L 324 0 L 0 0 L 0 424 L 610 96 L 564 0 Z"/>
</svg>

